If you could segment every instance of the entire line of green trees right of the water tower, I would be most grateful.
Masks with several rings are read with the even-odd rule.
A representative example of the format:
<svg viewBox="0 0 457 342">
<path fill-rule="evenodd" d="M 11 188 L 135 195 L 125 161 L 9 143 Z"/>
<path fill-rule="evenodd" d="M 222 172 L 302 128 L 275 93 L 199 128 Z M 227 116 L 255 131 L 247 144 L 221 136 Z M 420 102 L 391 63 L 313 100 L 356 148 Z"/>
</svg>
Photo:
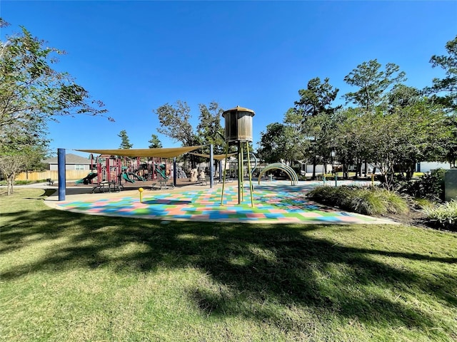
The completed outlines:
<svg viewBox="0 0 457 342">
<path fill-rule="evenodd" d="M 266 162 L 305 160 L 338 162 L 348 176 L 363 163 L 381 170 L 391 184 L 394 172 L 411 178 L 416 162 L 457 159 L 457 36 L 446 43 L 446 56 L 432 56 L 432 67 L 445 71 L 423 89 L 406 86 L 406 74 L 394 63 L 363 62 L 344 78 L 354 88 L 334 105 L 338 89 L 316 77 L 283 116 L 261 133 L 259 155 Z M 365 167 L 367 170 L 367 167 Z"/>
</svg>

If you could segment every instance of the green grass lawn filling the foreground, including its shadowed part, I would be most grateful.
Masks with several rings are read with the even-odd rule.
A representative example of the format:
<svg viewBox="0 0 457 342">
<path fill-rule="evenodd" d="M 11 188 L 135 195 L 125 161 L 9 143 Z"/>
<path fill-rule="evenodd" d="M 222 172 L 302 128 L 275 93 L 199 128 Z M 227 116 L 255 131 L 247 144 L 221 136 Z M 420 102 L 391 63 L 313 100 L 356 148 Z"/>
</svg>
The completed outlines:
<svg viewBox="0 0 457 342">
<path fill-rule="evenodd" d="M 1 341 L 456 341 L 457 234 L 1 200 Z"/>
</svg>

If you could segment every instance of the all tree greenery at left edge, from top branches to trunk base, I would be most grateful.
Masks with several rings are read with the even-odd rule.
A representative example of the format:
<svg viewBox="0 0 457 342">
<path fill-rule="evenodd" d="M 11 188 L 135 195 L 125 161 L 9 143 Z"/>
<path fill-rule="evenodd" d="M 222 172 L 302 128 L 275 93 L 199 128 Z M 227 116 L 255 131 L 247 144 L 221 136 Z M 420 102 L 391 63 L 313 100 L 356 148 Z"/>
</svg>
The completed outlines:
<svg viewBox="0 0 457 342">
<path fill-rule="evenodd" d="M 0 19 L 0 27 L 7 25 Z M 28 167 L 24 159 L 36 159 L 36 153 L 46 151 L 49 120 L 59 115 L 107 113 L 103 103 L 91 100 L 68 73 L 52 68 L 56 56 L 63 54 L 46 47 L 24 27 L 0 43 L 0 155 L 2 165 L 9 164 L 4 170 L 8 168 L 10 175 Z M 12 192 L 11 177 L 8 186 Z"/>
</svg>

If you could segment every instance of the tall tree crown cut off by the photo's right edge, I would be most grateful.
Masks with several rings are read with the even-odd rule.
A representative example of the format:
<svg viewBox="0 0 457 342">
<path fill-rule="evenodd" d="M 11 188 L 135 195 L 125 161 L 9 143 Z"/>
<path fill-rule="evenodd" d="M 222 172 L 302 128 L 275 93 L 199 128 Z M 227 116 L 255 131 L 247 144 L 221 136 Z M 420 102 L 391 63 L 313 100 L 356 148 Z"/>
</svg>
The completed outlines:
<svg viewBox="0 0 457 342">
<path fill-rule="evenodd" d="M 433 86 L 425 90 L 436 103 L 457 110 L 457 36 L 446 43 L 446 51 L 448 56 L 433 55 L 430 59 L 433 68 L 439 66 L 446 71 L 446 77 L 433 78 Z"/>
</svg>

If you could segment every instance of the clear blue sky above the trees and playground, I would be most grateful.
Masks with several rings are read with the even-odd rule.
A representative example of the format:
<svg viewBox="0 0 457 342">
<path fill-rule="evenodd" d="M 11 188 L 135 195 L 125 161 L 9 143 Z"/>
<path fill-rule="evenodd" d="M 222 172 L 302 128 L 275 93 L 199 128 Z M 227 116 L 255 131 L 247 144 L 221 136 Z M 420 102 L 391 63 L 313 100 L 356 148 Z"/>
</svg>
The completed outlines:
<svg viewBox="0 0 457 342">
<path fill-rule="evenodd" d="M 251 108 L 256 146 L 311 78 L 330 78 L 342 102 L 353 90 L 344 76 L 376 58 L 423 88 L 443 76 L 429 60 L 457 34 L 457 1 L 2 0 L 0 15 L 11 24 L 2 40 L 25 26 L 65 50 L 56 68 L 116 120 L 61 118 L 49 125 L 53 150 L 118 148 L 121 130 L 134 148 L 151 134 L 179 146 L 157 132 L 153 113 L 176 100 L 189 104 L 194 127 L 199 103 Z"/>
</svg>

